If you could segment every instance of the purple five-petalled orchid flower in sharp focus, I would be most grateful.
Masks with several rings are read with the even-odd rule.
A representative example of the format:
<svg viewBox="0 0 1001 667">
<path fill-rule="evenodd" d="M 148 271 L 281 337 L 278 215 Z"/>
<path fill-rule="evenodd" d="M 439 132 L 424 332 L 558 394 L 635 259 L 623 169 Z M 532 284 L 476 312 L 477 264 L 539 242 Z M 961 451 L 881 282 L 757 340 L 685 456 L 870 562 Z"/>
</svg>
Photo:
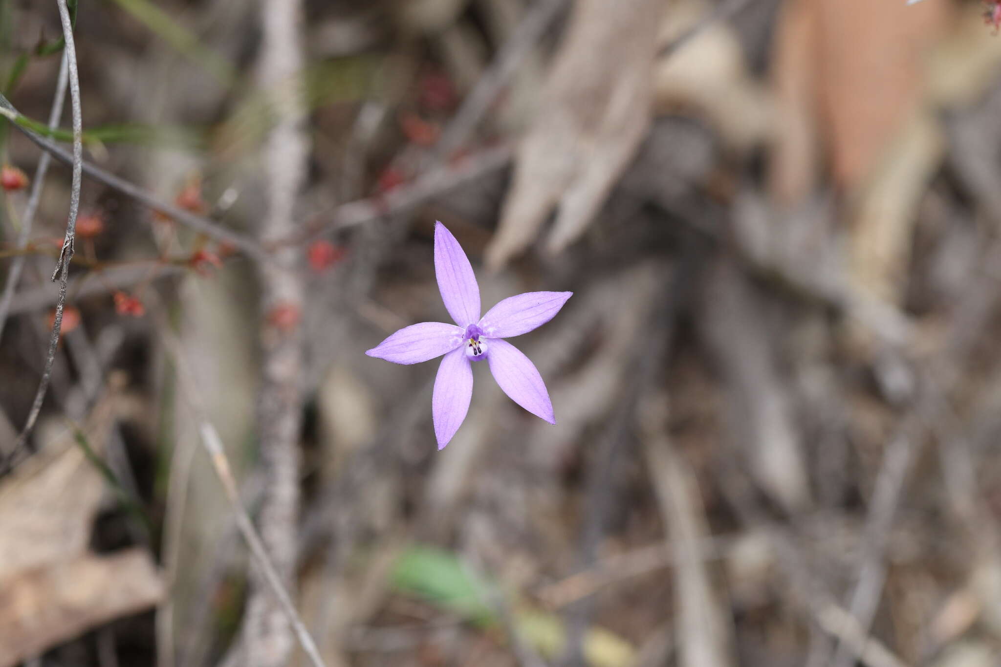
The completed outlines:
<svg viewBox="0 0 1001 667">
<path fill-rule="evenodd" d="M 479 317 L 479 286 L 472 266 L 440 222 L 434 225 L 434 274 L 441 300 L 455 324 L 412 324 L 365 354 L 394 364 L 417 364 L 444 355 L 431 398 L 438 449 L 448 444 L 469 411 L 471 361 L 486 359 L 504 393 L 537 417 L 556 424 L 550 394 L 535 364 L 505 338 L 546 324 L 574 293 L 526 292 L 500 301 Z"/>
</svg>

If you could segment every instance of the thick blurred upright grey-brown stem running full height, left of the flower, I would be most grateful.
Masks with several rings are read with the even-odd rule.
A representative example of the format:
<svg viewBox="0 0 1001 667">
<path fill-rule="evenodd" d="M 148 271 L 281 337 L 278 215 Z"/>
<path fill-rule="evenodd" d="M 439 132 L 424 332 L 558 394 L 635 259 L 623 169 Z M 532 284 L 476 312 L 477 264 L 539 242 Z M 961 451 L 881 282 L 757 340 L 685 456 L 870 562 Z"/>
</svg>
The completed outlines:
<svg viewBox="0 0 1001 667">
<path fill-rule="evenodd" d="M 304 60 L 302 1 L 264 0 L 260 11 L 260 84 L 263 90 L 275 91 L 269 98 L 275 124 L 262 151 L 267 210 L 258 231 L 261 245 L 268 247 L 296 230 L 295 202 L 306 180 L 309 142 L 305 100 L 294 83 Z M 255 417 L 267 475 L 258 524 L 275 576 L 287 590 L 294 590 L 305 290 L 294 246 L 275 247 L 273 259 L 256 267 L 261 288 L 261 373 Z M 243 628 L 229 657 L 244 667 L 281 667 L 294 640 L 280 605 L 269 594 L 269 583 L 260 575 L 251 573 Z"/>
</svg>

